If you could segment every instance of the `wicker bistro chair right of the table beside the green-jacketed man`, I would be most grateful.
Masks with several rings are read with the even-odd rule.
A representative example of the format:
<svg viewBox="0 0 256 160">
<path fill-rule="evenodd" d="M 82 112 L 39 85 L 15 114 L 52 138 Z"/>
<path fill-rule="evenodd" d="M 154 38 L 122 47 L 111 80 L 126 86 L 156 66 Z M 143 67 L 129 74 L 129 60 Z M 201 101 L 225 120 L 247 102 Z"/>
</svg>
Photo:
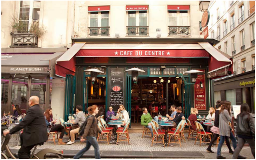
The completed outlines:
<svg viewBox="0 0 256 160">
<path fill-rule="evenodd" d="M 182 136 L 182 134 L 180 134 L 180 131 L 184 128 L 185 126 L 185 120 L 181 120 L 180 123 L 178 124 L 178 126 L 176 127 L 176 129 L 170 130 L 168 131 L 168 135 L 169 135 L 169 139 L 168 139 L 168 146 L 171 143 L 178 143 L 180 144 L 181 147 L 181 141 L 180 141 L 180 136 Z M 176 141 L 176 138 L 178 139 L 178 141 Z M 171 142 L 171 139 L 174 139 L 173 142 Z"/>
</svg>

